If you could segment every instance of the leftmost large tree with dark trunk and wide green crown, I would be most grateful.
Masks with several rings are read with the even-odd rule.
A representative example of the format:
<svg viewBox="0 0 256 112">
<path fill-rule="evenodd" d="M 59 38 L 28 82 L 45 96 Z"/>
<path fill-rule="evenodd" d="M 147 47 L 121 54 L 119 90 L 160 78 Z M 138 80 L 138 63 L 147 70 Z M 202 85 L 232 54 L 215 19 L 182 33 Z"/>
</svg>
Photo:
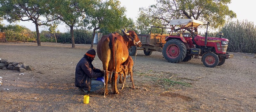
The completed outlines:
<svg viewBox="0 0 256 112">
<path fill-rule="evenodd" d="M 48 0 L 0 0 L 0 17 L 8 22 L 33 21 L 36 25 L 37 46 L 41 46 L 38 26 L 49 25 L 48 22 L 58 18 L 50 17 L 53 5 Z"/>
</svg>

